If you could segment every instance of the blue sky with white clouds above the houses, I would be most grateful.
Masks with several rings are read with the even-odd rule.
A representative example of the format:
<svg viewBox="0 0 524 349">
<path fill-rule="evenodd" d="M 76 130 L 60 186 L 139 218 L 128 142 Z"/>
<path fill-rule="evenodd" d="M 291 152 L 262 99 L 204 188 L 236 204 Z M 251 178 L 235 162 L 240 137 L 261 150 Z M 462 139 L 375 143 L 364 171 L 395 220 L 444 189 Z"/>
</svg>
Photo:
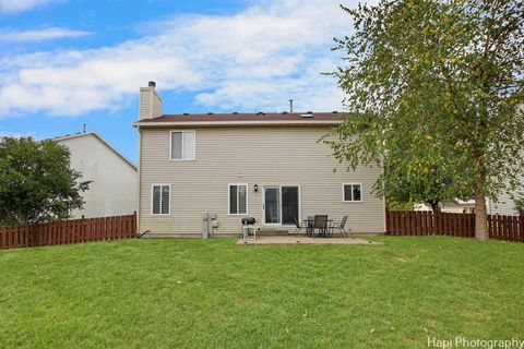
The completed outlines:
<svg viewBox="0 0 524 349">
<path fill-rule="evenodd" d="M 356 1 L 344 1 L 356 4 Z M 332 0 L 0 0 L 0 136 L 99 132 L 136 160 L 138 91 L 164 112 L 341 110 L 321 75 L 349 34 Z"/>
</svg>

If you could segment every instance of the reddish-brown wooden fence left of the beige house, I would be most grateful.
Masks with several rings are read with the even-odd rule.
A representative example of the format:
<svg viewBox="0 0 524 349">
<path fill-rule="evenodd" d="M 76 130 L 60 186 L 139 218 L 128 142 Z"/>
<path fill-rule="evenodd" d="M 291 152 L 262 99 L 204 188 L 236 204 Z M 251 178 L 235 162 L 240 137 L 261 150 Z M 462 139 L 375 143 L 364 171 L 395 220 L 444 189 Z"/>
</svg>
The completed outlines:
<svg viewBox="0 0 524 349">
<path fill-rule="evenodd" d="M 58 220 L 0 227 L 0 250 L 71 244 L 136 236 L 136 213 L 128 216 Z"/>
</svg>

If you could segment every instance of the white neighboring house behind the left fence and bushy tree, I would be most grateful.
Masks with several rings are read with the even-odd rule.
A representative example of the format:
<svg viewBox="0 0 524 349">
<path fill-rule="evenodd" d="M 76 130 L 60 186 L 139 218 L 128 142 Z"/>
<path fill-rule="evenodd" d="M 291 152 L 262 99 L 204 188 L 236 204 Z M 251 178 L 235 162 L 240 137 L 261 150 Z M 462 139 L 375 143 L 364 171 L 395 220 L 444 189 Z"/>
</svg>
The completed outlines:
<svg viewBox="0 0 524 349">
<path fill-rule="evenodd" d="M 82 172 L 81 181 L 92 181 L 82 196 L 84 208 L 73 217 L 130 215 L 136 210 L 138 171 L 133 163 L 120 154 L 96 132 L 84 132 L 55 141 L 71 152 L 71 167 Z"/>
</svg>

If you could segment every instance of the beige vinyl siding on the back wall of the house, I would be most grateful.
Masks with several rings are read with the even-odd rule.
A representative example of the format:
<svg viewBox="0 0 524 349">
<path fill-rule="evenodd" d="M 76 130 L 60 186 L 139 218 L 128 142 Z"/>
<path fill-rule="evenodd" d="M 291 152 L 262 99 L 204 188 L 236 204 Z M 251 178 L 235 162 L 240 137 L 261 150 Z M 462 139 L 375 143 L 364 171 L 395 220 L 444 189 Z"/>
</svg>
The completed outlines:
<svg viewBox="0 0 524 349">
<path fill-rule="evenodd" d="M 179 128 L 177 127 L 177 130 Z M 170 129 L 142 129 L 140 230 L 200 233 L 202 213 L 216 213 L 216 233 L 239 233 L 239 215 L 228 215 L 228 184 L 248 184 L 248 213 L 263 222 L 264 185 L 300 185 L 301 218 L 329 214 L 357 232 L 384 231 L 384 203 L 372 193 L 379 168 L 347 172 L 317 141 L 326 127 L 200 128 L 195 160 L 170 161 Z M 333 172 L 334 168 L 336 172 Z M 171 185 L 169 216 L 151 215 L 151 185 Z M 343 202 L 343 183 L 362 183 L 362 202 Z M 259 191 L 253 190 L 258 184 Z"/>
</svg>

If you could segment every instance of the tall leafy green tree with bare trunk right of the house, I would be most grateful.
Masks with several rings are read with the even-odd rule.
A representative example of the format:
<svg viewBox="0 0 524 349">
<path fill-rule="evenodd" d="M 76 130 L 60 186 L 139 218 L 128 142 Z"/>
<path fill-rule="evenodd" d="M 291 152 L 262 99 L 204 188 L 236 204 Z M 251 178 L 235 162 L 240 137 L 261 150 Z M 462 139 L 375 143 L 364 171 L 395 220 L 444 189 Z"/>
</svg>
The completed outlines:
<svg viewBox="0 0 524 349">
<path fill-rule="evenodd" d="M 475 237 L 487 239 L 486 197 L 515 188 L 524 165 L 522 1 L 382 0 L 343 10 L 354 34 L 336 40 L 346 65 L 334 75 L 352 113 L 325 142 L 353 168 L 383 161 L 398 170 L 405 157 L 438 169 L 412 171 L 415 182 L 451 173 L 446 192 L 474 194 Z"/>
</svg>

